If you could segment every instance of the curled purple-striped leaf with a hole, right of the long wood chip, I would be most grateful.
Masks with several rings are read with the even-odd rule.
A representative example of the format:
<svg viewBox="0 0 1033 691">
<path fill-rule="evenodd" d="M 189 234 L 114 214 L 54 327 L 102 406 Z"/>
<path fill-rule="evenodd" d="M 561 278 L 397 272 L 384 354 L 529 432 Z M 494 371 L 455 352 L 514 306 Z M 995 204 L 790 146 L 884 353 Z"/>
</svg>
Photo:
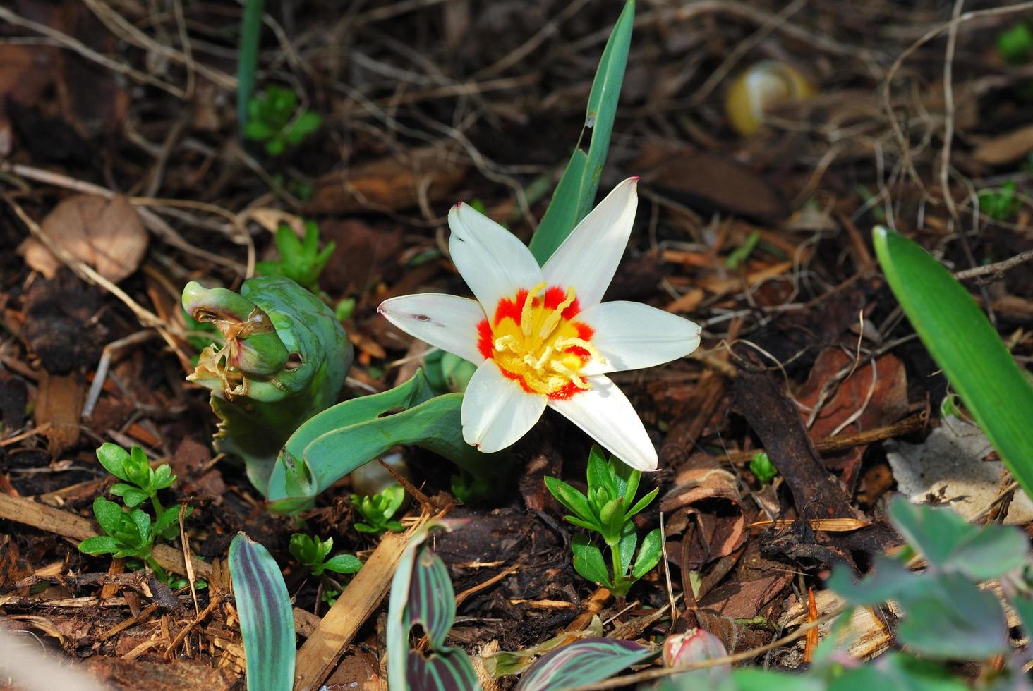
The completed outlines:
<svg viewBox="0 0 1033 691">
<path fill-rule="evenodd" d="M 390 691 L 480 688 L 470 658 L 460 648 L 444 645 L 456 620 L 456 593 L 444 562 L 426 543 L 429 524 L 409 540 L 390 584 L 387 609 L 387 684 Z M 409 631 L 420 624 L 430 655 L 409 650 Z"/>
</svg>

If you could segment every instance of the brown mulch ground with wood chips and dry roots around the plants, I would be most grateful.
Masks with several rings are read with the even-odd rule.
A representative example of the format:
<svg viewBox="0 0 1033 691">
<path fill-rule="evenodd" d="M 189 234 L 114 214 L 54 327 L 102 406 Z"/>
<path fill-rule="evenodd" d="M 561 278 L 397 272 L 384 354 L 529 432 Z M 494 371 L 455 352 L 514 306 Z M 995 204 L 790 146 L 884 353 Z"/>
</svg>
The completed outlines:
<svg viewBox="0 0 1033 691">
<path fill-rule="evenodd" d="M 280 222 L 316 221 L 337 244 L 319 288 L 332 306 L 355 301 L 342 399 L 403 381 L 424 346 L 377 305 L 467 294 L 446 252 L 457 200 L 530 240 L 622 6 L 265 4 L 258 87 L 292 89 L 322 118 L 276 156 L 238 133 L 241 5 L 0 7 L 0 621 L 117 688 L 244 688 L 223 565 L 238 531 L 283 568 L 300 645 L 326 611 L 287 549 L 298 524 L 269 514 L 242 464 L 212 450 L 208 391 L 184 378 L 197 349 L 183 286 L 239 287 L 275 257 Z M 951 25 L 952 10 L 965 14 Z M 809 589 L 812 619 L 835 607 L 822 595 L 832 566 L 865 572 L 900 542 L 883 517 L 888 497 L 971 495 L 900 477 L 899 459 L 942 429 L 949 390 L 886 286 L 871 229 L 891 225 L 956 272 L 1033 249 L 1033 63 L 1005 61 L 996 43 L 1029 18 L 990 2 L 639 2 L 600 191 L 641 176 L 606 300 L 703 328 L 692 356 L 614 375 L 659 450 L 660 471 L 644 477 L 659 500 L 638 523 L 657 527 L 662 512 L 666 559 L 627 598 L 573 570 L 576 531 L 541 478 L 584 489 L 591 440 L 558 415 L 516 445 L 520 482 L 487 504 L 460 505 L 448 464 L 405 449 L 428 500 L 406 504 L 408 524 L 442 507 L 476 519 L 436 544 L 462 596 L 453 645 L 520 650 L 597 614 L 624 638 L 698 624 L 729 651 L 757 648 L 807 620 Z M 762 61 L 797 70 L 815 94 L 743 136 L 726 93 Z M 980 192 L 1008 181 L 1013 202 L 980 211 Z M 966 281 L 1026 368 L 1031 265 Z M 188 544 L 174 540 L 168 559 L 192 551 L 208 588 L 173 591 L 76 549 L 113 481 L 95 457 L 105 441 L 140 445 L 179 475 L 166 496 L 193 512 Z M 779 461 L 773 484 L 750 470 L 760 449 Z M 998 492 L 1007 478 L 991 480 L 971 515 L 1028 529 Z M 353 529 L 350 494 L 342 480 L 302 517 L 365 561 L 380 538 Z M 372 603 L 330 688 L 386 688 L 385 609 Z M 866 629 L 865 653 L 891 645 L 891 624 Z M 795 668 L 806 646 L 757 661 Z"/>
</svg>

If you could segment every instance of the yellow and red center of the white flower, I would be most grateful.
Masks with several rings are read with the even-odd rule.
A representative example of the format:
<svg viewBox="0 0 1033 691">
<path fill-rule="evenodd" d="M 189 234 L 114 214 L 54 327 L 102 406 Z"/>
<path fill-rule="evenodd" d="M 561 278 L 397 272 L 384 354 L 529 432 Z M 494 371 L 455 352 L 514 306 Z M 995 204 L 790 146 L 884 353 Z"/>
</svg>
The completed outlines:
<svg viewBox="0 0 1033 691">
<path fill-rule="evenodd" d="M 593 359 L 605 362 L 591 343 L 592 327 L 574 321 L 578 311 L 573 288 L 546 289 L 542 283 L 521 289 L 499 301 L 491 320 L 477 324 L 477 348 L 528 394 L 569 399 L 589 388 L 582 368 Z"/>
</svg>

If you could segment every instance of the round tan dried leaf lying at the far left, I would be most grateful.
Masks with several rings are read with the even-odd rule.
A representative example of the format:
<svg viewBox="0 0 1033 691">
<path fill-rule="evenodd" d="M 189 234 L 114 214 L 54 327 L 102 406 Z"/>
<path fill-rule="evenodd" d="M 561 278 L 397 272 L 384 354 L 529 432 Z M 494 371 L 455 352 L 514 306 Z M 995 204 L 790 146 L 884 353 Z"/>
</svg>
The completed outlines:
<svg viewBox="0 0 1033 691">
<path fill-rule="evenodd" d="M 111 199 L 88 194 L 70 196 L 55 207 L 40 226 L 72 256 L 115 283 L 135 272 L 147 252 L 144 224 L 129 199 L 122 195 Z M 46 278 L 53 278 L 61 265 L 35 238 L 22 243 L 19 253 Z"/>
</svg>

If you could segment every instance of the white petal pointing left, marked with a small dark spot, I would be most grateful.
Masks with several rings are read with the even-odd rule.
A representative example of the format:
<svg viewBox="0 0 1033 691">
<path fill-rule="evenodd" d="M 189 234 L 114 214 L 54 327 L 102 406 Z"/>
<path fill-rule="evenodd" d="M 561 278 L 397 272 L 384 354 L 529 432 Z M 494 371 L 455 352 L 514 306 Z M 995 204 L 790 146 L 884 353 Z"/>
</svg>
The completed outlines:
<svg viewBox="0 0 1033 691">
<path fill-rule="evenodd" d="M 477 351 L 477 322 L 484 319 L 484 311 L 475 300 L 424 292 L 385 300 L 377 312 L 432 346 L 472 363 L 484 359 Z"/>
</svg>

